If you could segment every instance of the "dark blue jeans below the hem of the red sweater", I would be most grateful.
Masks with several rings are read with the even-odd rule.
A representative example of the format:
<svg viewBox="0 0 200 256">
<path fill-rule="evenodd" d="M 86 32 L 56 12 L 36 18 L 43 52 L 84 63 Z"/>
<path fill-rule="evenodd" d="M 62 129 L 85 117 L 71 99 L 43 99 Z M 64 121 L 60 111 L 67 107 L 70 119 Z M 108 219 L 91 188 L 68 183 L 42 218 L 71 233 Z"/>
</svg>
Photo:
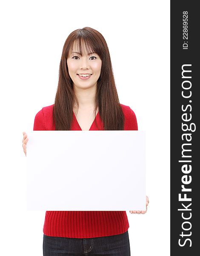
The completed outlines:
<svg viewBox="0 0 200 256">
<path fill-rule="evenodd" d="M 43 235 L 43 256 L 130 256 L 128 230 L 119 235 L 67 238 Z"/>
</svg>

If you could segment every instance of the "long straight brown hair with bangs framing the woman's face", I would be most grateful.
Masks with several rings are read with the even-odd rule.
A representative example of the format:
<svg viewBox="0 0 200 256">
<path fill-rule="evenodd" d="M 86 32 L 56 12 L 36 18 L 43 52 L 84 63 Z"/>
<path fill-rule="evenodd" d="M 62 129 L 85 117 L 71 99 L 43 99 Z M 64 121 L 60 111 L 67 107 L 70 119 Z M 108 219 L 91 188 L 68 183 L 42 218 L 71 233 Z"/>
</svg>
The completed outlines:
<svg viewBox="0 0 200 256">
<path fill-rule="evenodd" d="M 123 130 L 124 115 L 120 106 L 117 89 L 114 82 L 109 49 L 103 35 L 90 27 L 84 27 L 83 29 L 77 29 L 71 32 L 63 46 L 58 87 L 53 111 L 53 119 L 56 130 L 71 130 L 73 106 L 75 101 L 78 106 L 78 99 L 75 96 L 73 90 L 73 81 L 69 76 L 67 66 L 67 58 L 70 54 L 69 51 L 73 49 L 74 42 L 77 43 L 81 55 L 81 44 L 84 43 L 87 53 L 96 52 L 102 61 L 101 73 L 99 79 L 97 80 L 97 92 L 94 99 L 95 116 L 97 108 L 99 108 L 99 115 L 103 121 L 104 130 Z"/>
</svg>

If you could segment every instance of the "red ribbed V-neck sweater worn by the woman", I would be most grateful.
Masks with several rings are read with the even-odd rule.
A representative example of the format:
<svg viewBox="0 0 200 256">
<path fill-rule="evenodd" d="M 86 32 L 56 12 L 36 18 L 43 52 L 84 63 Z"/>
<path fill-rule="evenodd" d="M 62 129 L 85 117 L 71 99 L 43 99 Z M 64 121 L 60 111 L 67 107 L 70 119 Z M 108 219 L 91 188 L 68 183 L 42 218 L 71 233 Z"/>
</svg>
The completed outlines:
<svg viewBox="0 0 200 256">
<path fill-rule="evenodd" d="M 120 105 L 125 116 L 124 130 L 137 130 L 134 112 L 129 106 Z M 36 114 L 34 131 L 55 130 L 52 116 L 53 106 L 54 104 L 44 107 Z M 103 130 L 103 122 L 99 113 L 96 115 L 96 121 L 100 130 Z M 74 113 L 71 130 L 81 131 Z M 98 130 L 95 122 L 90 127 L 90 131 L 93 130 Z M 126 211 L 46 211 L 43 233 L 46 236 L 94 238 L 122 234 L 128 228 Z"/>
</svg>

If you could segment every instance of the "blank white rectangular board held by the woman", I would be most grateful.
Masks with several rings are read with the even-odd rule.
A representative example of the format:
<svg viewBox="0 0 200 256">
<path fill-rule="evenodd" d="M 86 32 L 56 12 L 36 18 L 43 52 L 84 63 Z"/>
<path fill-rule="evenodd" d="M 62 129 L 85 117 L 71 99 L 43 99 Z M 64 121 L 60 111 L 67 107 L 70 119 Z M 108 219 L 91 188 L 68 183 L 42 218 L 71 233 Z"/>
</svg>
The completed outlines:
<svg viewBox="0 0 200 256">
<path fill-rule="evenodd" d="M 146 210 L 145 132 L 27 135 L 28 210 Z"/>
</svg>

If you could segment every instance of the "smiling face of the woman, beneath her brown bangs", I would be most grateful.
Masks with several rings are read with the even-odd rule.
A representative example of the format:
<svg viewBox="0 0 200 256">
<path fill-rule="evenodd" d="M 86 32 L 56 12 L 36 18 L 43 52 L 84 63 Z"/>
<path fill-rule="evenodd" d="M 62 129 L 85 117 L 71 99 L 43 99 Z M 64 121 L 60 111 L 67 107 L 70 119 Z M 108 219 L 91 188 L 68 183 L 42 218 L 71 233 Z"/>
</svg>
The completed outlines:
<svg viewBox="0 0 200 256">
<path fill-rule="evenodd" d="M 73 52 L 69 52 L 69 58 L 67 59 L 69 76 L 73 81 L 73 86 L 82 89 L 93 86 L 97 87 L 97 80 L 100 77 L 102 61 L 96 53 L 88 55 L 86 48 L 84 47 L 83 49 L 83 56 L 80 56 L 77 46 L 75 45 L 73 47 Z"/>
</svg>

